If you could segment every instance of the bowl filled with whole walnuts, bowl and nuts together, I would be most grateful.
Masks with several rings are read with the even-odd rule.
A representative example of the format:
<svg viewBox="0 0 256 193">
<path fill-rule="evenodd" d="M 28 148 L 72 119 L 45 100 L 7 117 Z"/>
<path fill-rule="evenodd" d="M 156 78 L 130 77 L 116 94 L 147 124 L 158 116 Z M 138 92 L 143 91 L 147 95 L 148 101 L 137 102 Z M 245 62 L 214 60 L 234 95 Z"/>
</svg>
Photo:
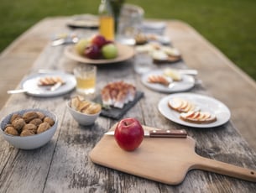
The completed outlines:
<svg viewBox="0 0 256 193">
<path fill-rule="evenodd" d="M 37 149 L 50 141 L 57 124 L 58 119 L 52 112 L 24 109 L 4 117 L 0 133 L 15 148 Z"/>
</svg>

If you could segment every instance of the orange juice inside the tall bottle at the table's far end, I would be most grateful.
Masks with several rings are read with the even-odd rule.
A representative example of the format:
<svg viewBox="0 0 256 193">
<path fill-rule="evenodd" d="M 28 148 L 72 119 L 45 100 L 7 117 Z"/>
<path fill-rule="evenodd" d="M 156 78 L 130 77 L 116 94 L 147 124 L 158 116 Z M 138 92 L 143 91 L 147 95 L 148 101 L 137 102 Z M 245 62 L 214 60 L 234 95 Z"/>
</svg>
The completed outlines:
<svg viewBox="0 0 256 193">
<path fill-rule="evenodd" d="M 114 19 L 112 16 L 104 15 L 100 17 L 100 34 L 106 39 L 114 40 Z"/>
</svg>

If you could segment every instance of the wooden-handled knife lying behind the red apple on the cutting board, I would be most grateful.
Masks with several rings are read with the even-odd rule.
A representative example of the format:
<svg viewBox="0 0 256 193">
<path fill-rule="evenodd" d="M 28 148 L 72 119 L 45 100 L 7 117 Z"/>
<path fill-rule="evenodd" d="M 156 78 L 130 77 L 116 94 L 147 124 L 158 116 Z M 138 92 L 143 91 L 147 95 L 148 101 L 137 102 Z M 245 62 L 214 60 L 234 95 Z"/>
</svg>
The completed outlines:
<svg viewBox="0 0 256 193">
<path fill-rule="evenodd" d="M 115 131 L 105 133 L 105 135 L 114 135 Z M 144 130 L 144 137 L 149 138 L 186 138 L 185 130 Z"/>
</svg>

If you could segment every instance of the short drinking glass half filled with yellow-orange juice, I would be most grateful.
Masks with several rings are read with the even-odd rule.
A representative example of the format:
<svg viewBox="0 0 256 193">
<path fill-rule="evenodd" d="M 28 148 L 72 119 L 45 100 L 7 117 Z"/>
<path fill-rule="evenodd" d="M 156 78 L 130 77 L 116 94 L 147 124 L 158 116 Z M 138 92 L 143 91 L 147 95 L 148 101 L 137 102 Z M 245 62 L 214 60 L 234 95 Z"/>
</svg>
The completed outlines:
<svg viewBox="0 0 256 193">
<path fill-rule="evenodd" d="M 95 65 L 78 65 L 74 69 L 76 91 L 84 96 L 93 96 L 96 87 L 97 67 Z"/>
</svg>

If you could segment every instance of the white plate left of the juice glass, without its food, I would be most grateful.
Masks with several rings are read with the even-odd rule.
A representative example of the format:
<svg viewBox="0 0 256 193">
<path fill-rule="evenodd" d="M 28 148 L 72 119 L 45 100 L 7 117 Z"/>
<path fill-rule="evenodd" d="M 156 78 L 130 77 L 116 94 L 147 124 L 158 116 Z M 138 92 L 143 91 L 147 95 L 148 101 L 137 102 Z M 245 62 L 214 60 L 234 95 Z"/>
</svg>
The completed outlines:
<svg viewBox="0 0 256 193">
<path fill-rule="evenodd" d="M 65 81 L 65 84 L 55 91 L 50 91 L 50 86 L 38 85 L 39 79 L 46 76 L 59 76 L 63 81 Z M 34 97 L 55 97 L 73 90 L 76 86 L 76 78 L 75 76 L 65 72 L 54 71 L 50 73 L 30 75 L 21 82 L 21 86 L 26 93 Z"/>
</svg>

